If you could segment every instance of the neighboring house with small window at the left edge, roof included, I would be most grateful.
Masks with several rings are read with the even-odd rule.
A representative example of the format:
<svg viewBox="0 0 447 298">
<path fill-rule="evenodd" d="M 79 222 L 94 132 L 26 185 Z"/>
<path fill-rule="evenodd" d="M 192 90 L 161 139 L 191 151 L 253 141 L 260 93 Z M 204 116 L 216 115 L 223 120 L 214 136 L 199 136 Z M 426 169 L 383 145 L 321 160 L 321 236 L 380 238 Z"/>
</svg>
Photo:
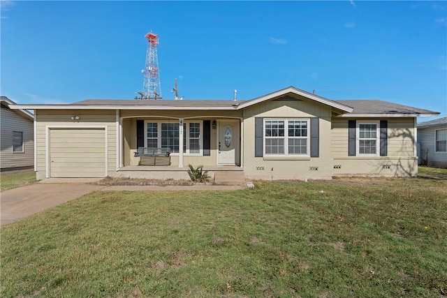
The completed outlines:
<svg viewBox="0 0 447 298">
<path fill-rule="evenodd" d="M 13 100 L 1 96 L 1 172 L 34 167 L 34 115 L 23 109 L 11 110 Z"/>
</svg>

